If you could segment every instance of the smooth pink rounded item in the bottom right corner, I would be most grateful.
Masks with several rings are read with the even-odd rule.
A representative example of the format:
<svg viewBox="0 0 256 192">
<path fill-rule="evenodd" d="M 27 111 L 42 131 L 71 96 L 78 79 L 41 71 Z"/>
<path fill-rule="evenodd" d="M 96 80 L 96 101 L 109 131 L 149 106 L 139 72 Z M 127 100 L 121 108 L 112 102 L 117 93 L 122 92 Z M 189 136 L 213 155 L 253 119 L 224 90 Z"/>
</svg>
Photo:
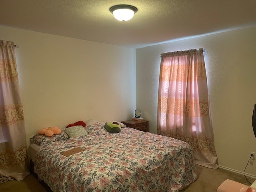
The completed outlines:
<svg viewBox="0 0 256 192">
<path fill-rule="evenodd" d="M 256 189 L 227 179 L 220 184 L 216 192 L 256 192 Z"/>
</svg>

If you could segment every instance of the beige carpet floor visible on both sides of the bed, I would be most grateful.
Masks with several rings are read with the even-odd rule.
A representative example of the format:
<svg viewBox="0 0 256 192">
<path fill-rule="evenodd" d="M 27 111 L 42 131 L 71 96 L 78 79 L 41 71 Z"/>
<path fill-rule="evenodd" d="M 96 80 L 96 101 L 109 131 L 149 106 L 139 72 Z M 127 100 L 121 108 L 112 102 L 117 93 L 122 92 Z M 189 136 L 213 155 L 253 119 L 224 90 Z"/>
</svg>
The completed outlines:
<svg viewBox="0 0 256 192">
<path fill-rule="evenodd" d="M 210 169 L 197 166 L 197 180 L 180 192 L 216 192 L 218 186 L 226 179 L 230 179 L 250 186 L 244 175 L 230 172 L 221 168 Z M 254 179 L 248 178 L 252 183 Z M 0 192 L 46 192 L 40 183 L 30 174 L 23 181 L 8 181 L 0 184 Z"/>
</svg>

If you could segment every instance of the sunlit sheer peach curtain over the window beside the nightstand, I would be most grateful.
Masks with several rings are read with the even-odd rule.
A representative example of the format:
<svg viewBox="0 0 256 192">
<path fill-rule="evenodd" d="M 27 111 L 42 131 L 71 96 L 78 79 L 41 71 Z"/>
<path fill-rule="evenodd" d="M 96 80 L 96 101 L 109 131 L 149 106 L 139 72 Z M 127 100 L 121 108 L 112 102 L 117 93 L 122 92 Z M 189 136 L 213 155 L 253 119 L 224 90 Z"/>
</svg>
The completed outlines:
<svg viewBox="0 0 256 192">
<path fill-rule="evenodd" d="M 158 134 L 190 144 L 196 164 L 218 168 L 202 48 L 161 56 Z"/>
</svg>

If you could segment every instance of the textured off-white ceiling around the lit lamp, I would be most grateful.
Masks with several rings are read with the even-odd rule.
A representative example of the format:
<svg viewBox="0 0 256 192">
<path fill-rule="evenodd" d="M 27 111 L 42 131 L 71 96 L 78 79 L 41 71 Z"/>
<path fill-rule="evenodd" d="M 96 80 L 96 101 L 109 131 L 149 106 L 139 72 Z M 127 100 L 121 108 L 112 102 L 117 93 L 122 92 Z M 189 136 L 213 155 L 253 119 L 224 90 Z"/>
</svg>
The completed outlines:
<svg viewBox="0 0 256 192">
<path fill-rule="evenodd" d="M 138 12 L 118 21 L 109 11 L 117 4 Z M 256 26 L 256 0 L 0 0 L 0 25 L 141 48 Z"/>
</svg>

